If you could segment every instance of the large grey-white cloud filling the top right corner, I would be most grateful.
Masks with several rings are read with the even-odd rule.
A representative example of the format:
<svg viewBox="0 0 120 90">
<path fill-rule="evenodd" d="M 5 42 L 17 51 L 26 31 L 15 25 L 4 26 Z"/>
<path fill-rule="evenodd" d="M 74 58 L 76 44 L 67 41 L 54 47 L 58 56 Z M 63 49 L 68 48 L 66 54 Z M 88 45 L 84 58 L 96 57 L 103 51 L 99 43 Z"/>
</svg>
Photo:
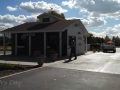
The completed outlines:
<svg viewBox="0 0 120 90">
<path fill-rule="evenodd" d="M 80 12 L 92 13 L 91 17 L 104 16 L 120 19 L 119 0 L 68 0 L 63 1 L 62 5 L 77 8 Z"/>
</svg>

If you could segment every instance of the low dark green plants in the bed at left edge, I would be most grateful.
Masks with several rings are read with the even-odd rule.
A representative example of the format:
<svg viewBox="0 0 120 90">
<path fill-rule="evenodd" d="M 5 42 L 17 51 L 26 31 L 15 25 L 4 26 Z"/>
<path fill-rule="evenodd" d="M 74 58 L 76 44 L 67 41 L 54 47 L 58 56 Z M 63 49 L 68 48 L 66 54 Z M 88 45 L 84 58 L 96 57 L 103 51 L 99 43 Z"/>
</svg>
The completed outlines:
<svg viewBox="0 0 120 90">
<path fill-rule="evenodd" d="M 26 67 L 20 64 L 1 63 L 0 70 L 24 70 Z"/>
</svg>

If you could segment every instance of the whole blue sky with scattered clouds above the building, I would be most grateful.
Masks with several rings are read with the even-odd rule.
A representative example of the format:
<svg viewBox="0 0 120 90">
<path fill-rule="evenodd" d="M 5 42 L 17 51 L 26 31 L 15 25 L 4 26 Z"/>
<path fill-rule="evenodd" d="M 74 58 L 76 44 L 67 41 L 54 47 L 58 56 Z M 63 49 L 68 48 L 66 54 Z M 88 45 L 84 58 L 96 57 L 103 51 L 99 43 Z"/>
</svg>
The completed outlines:
<svg viewBox="0 0 120 90">
<path fill-rule="evenodd" d="M 98 37 L 120 37 L 120 0 L 1 0 L 0 27 L 33 22 L 51 8 L 66 19 L 80 19 Z"/>
</svg>

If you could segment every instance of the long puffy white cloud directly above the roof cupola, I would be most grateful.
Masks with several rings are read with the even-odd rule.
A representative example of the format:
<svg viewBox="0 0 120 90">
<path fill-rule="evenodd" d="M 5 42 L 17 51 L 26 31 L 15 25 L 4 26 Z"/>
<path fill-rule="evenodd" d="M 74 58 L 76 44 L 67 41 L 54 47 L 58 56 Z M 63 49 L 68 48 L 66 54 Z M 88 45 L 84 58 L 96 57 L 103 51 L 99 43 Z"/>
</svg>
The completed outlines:
<svg viewBox="0 0 120 90">
<path fill-rule="evenodd" d="M 49 10 L 51 10 L 51 8 L 54 11 L 57 11 L 59 13 L 64 13 L 67 12 L 66 9 L 63 9 L 62 7 L 58 6 L 57 4 L 53 4 L 53 3 L 46 3 L 44 1 L 38 1 L 38 2 L 22 2 L 20 4 L 20 8 L 26 12 L 35 14 L 35 13 L 44 13 L 47 12 Z"/>
</svg>

